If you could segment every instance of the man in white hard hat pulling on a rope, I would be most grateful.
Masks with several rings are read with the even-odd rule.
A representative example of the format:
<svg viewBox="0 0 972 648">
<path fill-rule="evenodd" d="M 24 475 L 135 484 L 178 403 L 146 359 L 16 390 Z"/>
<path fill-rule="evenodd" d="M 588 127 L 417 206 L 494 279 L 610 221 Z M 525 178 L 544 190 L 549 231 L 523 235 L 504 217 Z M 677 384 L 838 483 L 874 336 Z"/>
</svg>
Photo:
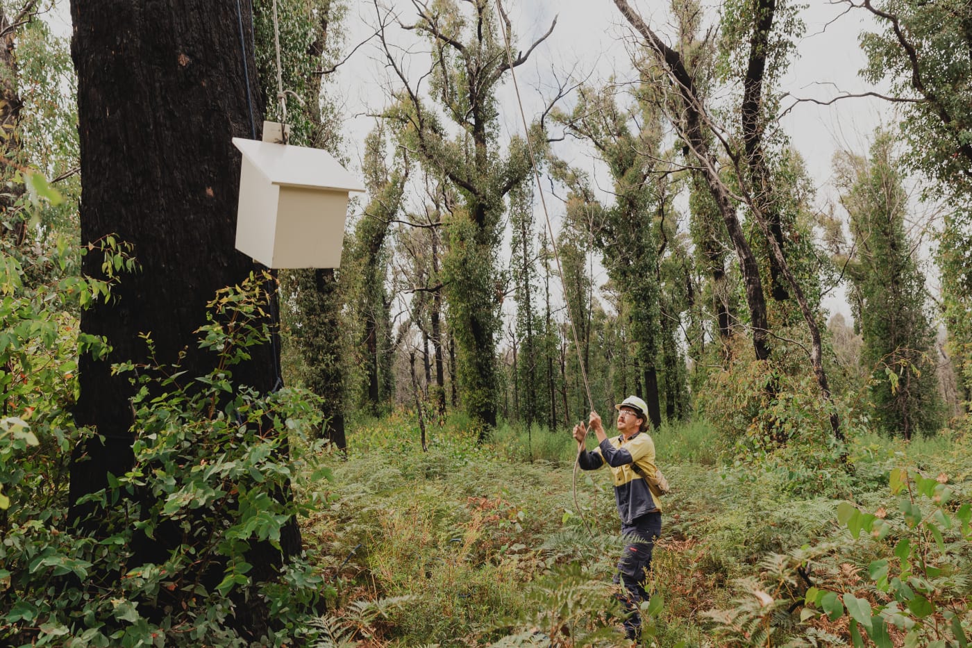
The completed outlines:
<svg viewBox="0 0 972 648">
<path fill-rule="evenodd" d="M 614 477 L 614 500 L 621 516 L 621 535 L 628 540 L 624 554 L 617 564 L 614 582 L 624 586 L 626 594 L 619 598 L 629 613 L 624 621 L 625 635 L 639 639 L 642 617 L 638 608 L 648 599 L 644 580 L 651 569 L 651 550 L 661 534 L 662 515 L 659 507 L 661 492 L 649 480 L 655 475 L 655 445 L 644 430 L 648 419 L 647 406 L 641 398 L 629 396 L 616 406 L 617 431 L 620 436 L 608 439 L 601 416 L 591 412 L 588 423 L 598 438 L 598 448 L 587 451 L 584 439 L 587 428 L 583 423 L 573 427 L 577 441 L 577 463 L 584 470 L 595 470 L 608 464 Z M 645 479 L 649 476 L 649 479 Z"/>
</svg>

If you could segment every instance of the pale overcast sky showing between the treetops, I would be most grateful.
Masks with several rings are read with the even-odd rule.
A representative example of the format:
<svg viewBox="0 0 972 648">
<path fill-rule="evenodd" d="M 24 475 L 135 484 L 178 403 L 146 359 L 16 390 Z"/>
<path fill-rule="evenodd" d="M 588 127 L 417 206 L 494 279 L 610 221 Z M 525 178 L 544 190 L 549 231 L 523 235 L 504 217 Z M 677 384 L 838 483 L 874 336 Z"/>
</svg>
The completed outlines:
<svg viewBox="0 0 972 648">
<path fill-rule="evenodd" d="M 405 21 L 414 20 L 415 12 L 409 0 L 390 4 Z M 537 89 L 548 89 L 553 83 L 551 70 L 593 73 L 592 83 L 606 80 L 611 74 L 630 78 L 631 65 L 623 41 L 631 30 L 610 0 L 506 0 L 505 4 L 510 6 L 508 11 L 521 47 L 535 41 L 553 18 L 557 18 L 557 27 L 550 38 L 534 52 L 527 65 L 517 69 L 528 102 L 528 118 L 533 114 L 532 109 L 535 111 L 540 105 Z M 667 3 L 633 3 L 642 17 L 664 33 L 665 15 L 649 9 L 663 4 Z M 713 16 L 716 8 L 717 4 L 712 4 Z M 799 44 L 799 55 L 785 78 L 784 90 L 795 96 L 821 100 L 833 98 L 838 90 L 870 90 L 857 76 L 864 64 L 857 35 L 872 23 L 864 11 L 838 18 L 843 8 L 844 5 L 817 1 L 803 12 L 807 35 Z M 348 43 L 364 40 L 374 22 L 373 4 L 369 0 L 353 0 L 345 25 Z M 389 31 L 394 34 L 399 30 L 392 27 Z M 377 45 L 365 45 L 339 70 L 337 83 L 347 101 L 349 132 L 370 127 L 371 121 L 354 115 L 383 101 L 377 83 L 387 77 L 383 68 L 384 57 Z M 501 93 L 501 105 L 506 126 L 522 131 L 509 83 Z M 793 146 L 806 159 L 811 174 L 824 184 L 830 177 L 834 151 L 847 146 L 866 147 L 866 137 L 878 126 L 884 110 L 885 106 L 876 99 L 845 99 L 831 106 L 803 103 L 783 118 L 782 124 L 792 137 Z"/>
</svg>

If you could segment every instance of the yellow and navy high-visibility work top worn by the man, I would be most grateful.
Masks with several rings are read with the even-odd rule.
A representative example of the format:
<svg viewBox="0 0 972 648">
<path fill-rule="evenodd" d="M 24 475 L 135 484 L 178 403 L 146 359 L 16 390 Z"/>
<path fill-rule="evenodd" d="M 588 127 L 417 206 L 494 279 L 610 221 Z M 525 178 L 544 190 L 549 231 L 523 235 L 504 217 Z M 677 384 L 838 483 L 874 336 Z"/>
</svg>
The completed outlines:
<svg viewBox="0 0 972 648">
<path fill-rule="evenodd" d="M 661 493 L 657 488 L 653 493 L 652 486 L 642 477 L 654 475 L 656 470 L 655 444 L 646 433 L 637 432 L 627 441 L 621 436 L 605 439 L 596 449 L 581 452 L 577 463 L 584 470 L 596 470 L 608 464 L 614 477 L 614 501 L 621 522 L 630 524 L 645 513 L 661 510 Z M 632 468 L 634 464 L 641 475 Z"/>
</svg>

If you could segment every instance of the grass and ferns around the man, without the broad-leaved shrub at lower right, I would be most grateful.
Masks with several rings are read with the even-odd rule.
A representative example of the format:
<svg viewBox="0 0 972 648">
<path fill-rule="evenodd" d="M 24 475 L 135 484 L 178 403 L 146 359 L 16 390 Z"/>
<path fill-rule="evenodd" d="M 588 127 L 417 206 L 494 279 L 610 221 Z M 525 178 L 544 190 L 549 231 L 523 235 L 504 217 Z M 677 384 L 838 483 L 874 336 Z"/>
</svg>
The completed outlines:
<svg viewBox="0 0 972 648">
<path fill-rule="evenodd" d="M 723 645 L 712 642 L 713 622 L 703 613 L 739 605 L 740 579 L 765 575 L 768 556 L 848 543 L 837 505 L 848 495 L 894 507 L 890 467 L 947 472 L 969 494 L 969 447 L 955 437 L 855 439 L 856 473 L 816 492 L 794 489 L 785 466 L 725 465 L 704 422 L 666 425 L 652 437 L 674 489 L 652 573 L 665 604 L 651 617 L 646 645 Z M 479 446 L 468 420 L 454 416 L 430 428 L 427 452 L 418 440 L 408 413 L 364 422 L 349 435 L 348 460 L 334 458 L 333 481 L 314 485 L 327 506 L 304 534 L 334 583 L 330 616 L 355 601 L 406 596 L 407 604 L 359 630 L 359 645 L 616 645 L 613 493 L 604 471 L 574 483 L 570 433 L 503 425 Z M 849 549 L 845 558 L 820 558 L 817 568 L 843 578 L 841 559 L 866 568 L 879 549 Z M 781 631 L 805 626 L 789 619 Z"/>
</svg>

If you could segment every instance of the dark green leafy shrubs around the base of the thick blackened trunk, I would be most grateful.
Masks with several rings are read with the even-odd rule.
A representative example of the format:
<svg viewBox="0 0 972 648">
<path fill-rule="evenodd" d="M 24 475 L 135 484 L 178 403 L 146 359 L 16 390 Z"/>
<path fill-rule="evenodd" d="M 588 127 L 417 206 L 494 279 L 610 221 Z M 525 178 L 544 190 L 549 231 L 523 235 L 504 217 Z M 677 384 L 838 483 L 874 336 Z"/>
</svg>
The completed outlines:
<svg viewBox="0 0 972 648">
<path fill-rule="evenodd" d="M 117 256 L 109 252 L 106 263 L 114 268 Z M 107 490 L 86 498 L 108 529 L 104 535 L 66 523 L 66 463 L 85 436 L 66 414 L 74 363 L 35 370 L 25 375 L 29 388 L 11 394 L 18 411 L 29 414 L 6 418 L 0 435 L 2 474 L 12 476 L 0 550 L 6 643 L 243 645 L 232 630 L 243 597 L 265 603 L 273 619 L 267 644 L 304 631 L 323 590 L 321 576 L 295 558 L 272 576 L 259 565 L 258 582 L 247 560 L 260 543 L 279 546 L 282 530 L 304 510 L 283 494 L 298 472 L 314 472 L 316 461 L 306 459 L 318 453 L 313 446 L 306 446 L 310 454 L 288 453 L 288 437 L 302 439 L 314 424 L 316 408 L 306 395 L 260 395 L 232 382 L 232 367 L 266 341 L 255 324 L 265 321 L 264 280 L 251 277 L 210 305 L 209 323 L 199 330 L 200 345 L 214 351 L 207 376 L 187 384 L 178 367 L 116 368 L 138 370 L 132 404 L 138 434 L 131 471 L 109 476 Z M 79 293 L 82 285 L 94 284 L 70 281 L 74 292 L 54 296 L 86 294 Z M 39 348 L 73 342 L 31 330 Z M 87 352 L 92 342 L 81 346 Z M 103 345 L 94 348 L 104 352 Z M 45 401 L 35 395 L 42 387 L 50 387 Z M 180 540 L 157 562 L 135 563 L 133 549 L 145 537 Z"/>
</svg>

